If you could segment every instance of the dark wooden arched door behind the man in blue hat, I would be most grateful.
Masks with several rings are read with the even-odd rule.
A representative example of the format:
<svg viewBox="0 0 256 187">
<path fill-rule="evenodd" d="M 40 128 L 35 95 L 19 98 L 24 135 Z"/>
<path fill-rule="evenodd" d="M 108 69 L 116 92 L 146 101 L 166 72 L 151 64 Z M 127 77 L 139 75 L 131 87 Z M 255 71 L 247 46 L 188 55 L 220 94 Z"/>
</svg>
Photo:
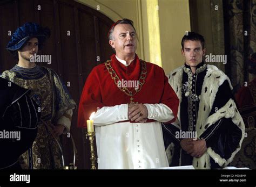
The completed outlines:
<svg viewBox="0 0 256 187">
<path fill-rule="evenodd" d="M 0 2 L 0 73 L 17 63 L 5 49 L 18 26 L 31 21 L 48 26 L 51 37 L 42 54 L 52 55 L 51 64 L 79 104 L 80 94 L 93 67 L 105 62 L 112 54 L 107 32 L 113 21 L 85 5 L 67 0 L 19 0 Z M 39 64 L 41 65 L 41 64 Z M 90 149 L 85 132 L 77 126 L 77 110 L 73 114 L 71 134 L 77 148 L 76 166 L 90 168 Z M 73 160 L 70 138 L 63 135 L 65 163 Z"/>
</svg>

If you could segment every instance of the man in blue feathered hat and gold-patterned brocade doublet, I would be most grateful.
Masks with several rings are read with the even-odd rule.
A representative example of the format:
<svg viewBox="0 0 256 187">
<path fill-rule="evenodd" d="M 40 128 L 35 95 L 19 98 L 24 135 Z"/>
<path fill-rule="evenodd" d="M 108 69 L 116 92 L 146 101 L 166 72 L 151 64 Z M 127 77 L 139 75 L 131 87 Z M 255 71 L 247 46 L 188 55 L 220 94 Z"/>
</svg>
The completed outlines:
<svg viewBox="0 0 256 187">
<path fill-rule="evenodd" d="M 62 154 L 59 135 L 69 132 L 75 101 L 59 76 L 50 68 L 38 66 L 35 62 L 45 62 L 45 56 L 38 55 L 50 30 L 37 23 L 25 23 L 12 34 L 6 49 L 18 59 L 12 69 L 1 77 L 30 89 L 30 97 L 41 111 L 38 135 L 33 145 L 19 159 L 23 169 L 61 169 Z M 49 64 L 49 63 L 48 63 Z"/>
</svg>

